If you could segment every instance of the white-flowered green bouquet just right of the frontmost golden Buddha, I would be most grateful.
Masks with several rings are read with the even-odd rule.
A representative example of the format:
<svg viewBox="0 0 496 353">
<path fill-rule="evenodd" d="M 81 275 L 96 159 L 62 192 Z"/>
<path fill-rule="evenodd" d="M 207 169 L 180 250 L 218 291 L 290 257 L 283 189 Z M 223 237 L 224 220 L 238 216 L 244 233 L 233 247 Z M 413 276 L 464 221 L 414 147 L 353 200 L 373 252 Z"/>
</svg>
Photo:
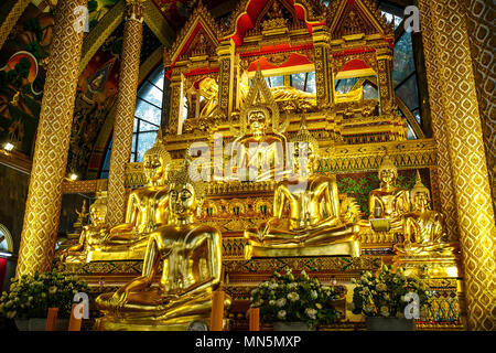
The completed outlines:
<svg viewBox="0 0 496 353">
<path fill-rule="evenodd" d="M 317 278 L 305 271 L 294 277 L 290 269 L 284 275 L 274 272 L 251 292 L 251 308 L 260 308 L 263 322 L 288 321 L 330 324 L 338 312 L 332 301 L 339 293 L 332 287 L 322 286 Z"/>
</svg>

